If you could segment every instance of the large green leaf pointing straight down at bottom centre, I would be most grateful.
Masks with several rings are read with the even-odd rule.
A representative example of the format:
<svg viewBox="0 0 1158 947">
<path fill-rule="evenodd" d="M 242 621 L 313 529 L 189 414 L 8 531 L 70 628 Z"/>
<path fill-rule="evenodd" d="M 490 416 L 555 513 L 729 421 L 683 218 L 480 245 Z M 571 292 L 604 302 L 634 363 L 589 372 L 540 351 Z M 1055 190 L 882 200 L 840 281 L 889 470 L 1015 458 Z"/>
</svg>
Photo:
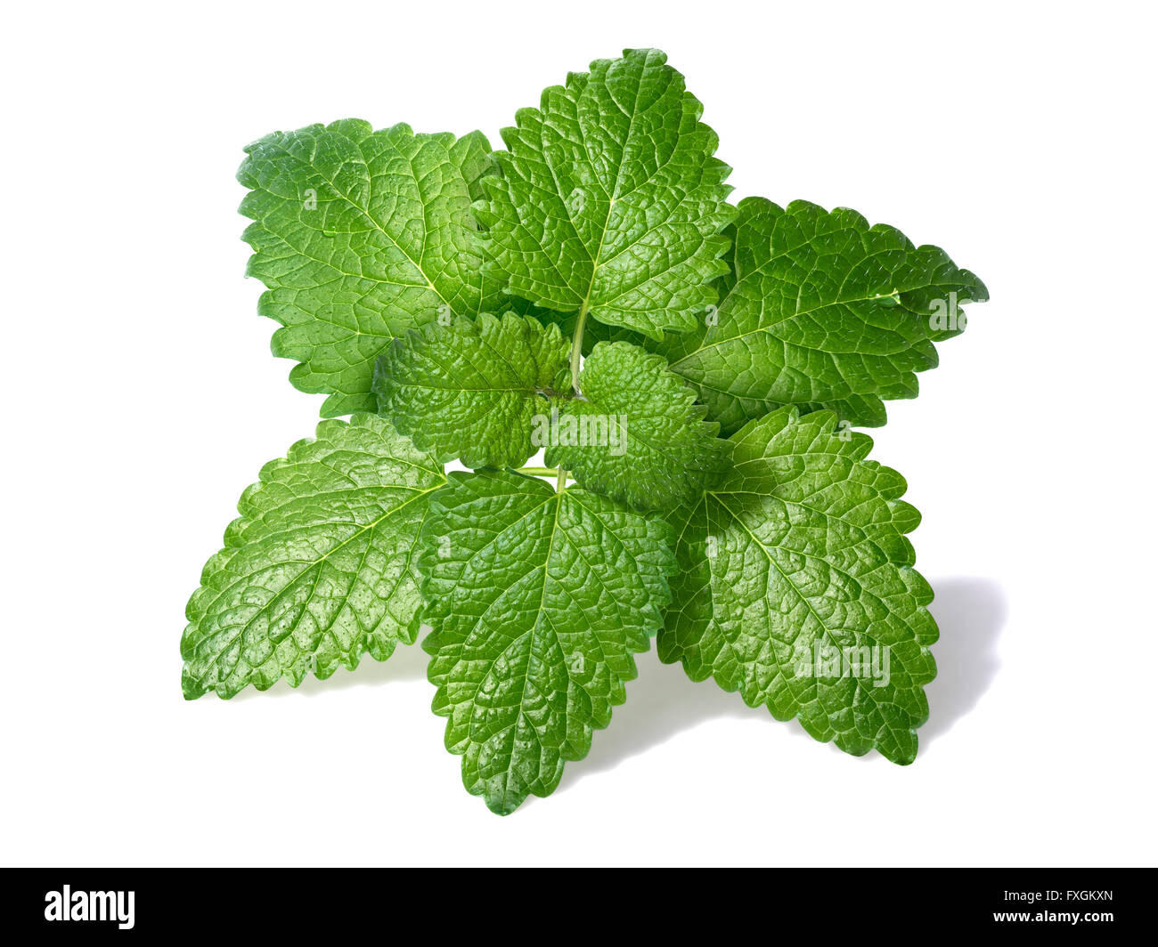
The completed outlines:
<svg viewBox="0 0 1158 947">
<path fill-rule="evenodd" d="M 670 529 L 511 471 L 452 474 L 423 529 L 434 712 L 462 779 L 506 815 L 581 759 L 668 601 Z"/>
</svg>

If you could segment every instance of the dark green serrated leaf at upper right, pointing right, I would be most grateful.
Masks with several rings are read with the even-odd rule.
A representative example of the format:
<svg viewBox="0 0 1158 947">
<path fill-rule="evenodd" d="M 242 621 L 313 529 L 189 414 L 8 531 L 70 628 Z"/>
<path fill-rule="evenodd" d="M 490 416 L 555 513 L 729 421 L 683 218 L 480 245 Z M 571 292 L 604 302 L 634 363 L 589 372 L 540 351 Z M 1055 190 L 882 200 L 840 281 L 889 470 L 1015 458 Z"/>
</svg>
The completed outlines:
<svg viewBox="0 0 1158 947">
<path fill-rule="evenodd" d="M 937 247 L 914 247 L 844 207 L 740 203 L 734 272 L 698 329 L 648 348 L 666 355 L 731 433 L 784 404 L 885 423 L 884 401 L 917 394 L 933 343 L 965 328 L 957 307 L 984 284 Z"/>
</svg>

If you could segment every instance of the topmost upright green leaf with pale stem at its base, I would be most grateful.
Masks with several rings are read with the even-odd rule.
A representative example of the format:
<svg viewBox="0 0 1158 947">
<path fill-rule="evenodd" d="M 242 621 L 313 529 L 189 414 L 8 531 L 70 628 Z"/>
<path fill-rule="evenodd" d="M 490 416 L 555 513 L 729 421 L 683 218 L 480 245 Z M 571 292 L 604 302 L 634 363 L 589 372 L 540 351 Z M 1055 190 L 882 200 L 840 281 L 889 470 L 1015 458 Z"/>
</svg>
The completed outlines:
<svg viewBox="0 0 1158 947">
<path fill-rule="evenodd" d="M 659 338 L 695 328 L 727 266 L 731 170 L 658 50 L 626 50 L 543 93 L 503 130 L 476 205 L 510 291 Z"/>
</svg>

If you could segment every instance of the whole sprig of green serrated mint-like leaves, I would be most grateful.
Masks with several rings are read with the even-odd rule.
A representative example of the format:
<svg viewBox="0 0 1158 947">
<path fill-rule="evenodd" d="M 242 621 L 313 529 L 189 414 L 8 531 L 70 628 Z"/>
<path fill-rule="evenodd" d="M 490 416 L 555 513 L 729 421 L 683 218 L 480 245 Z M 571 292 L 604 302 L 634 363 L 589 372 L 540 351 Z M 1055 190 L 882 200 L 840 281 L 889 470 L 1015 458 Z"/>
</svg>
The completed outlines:
<svg viewBox="0 0 1158 947">
<path fill-rule="evenodd" d="M 915 395 L 963 324 L 933 303 L 984 287 L 851 211 L 733 211 L 699 111 L 661 53 L 628 51 L 520 111 L 506 153 L 360 122 L 248 149 L 274 352 L 323 413 L 389 420 L 324 421 L 245 491 L 190 601 L 186 697 L 384 660 L 426 621 L 447 746 L 506 813 L 586 754 L 658 631 L 695 680 L 914 758 L 937 633 L 918 515 L 836 420 Z M 551 324 L 576 320 L 604 339 L 582 398 Z M 447 482 L 454 456 L 526 460 L 544 405 L 626 417 L 629 449 L 554 447 L 581 479 L 562 493 L 508 470 Z M 816 643 L 887 651 L 888 684 L 798 676 Z"/>
</svg>

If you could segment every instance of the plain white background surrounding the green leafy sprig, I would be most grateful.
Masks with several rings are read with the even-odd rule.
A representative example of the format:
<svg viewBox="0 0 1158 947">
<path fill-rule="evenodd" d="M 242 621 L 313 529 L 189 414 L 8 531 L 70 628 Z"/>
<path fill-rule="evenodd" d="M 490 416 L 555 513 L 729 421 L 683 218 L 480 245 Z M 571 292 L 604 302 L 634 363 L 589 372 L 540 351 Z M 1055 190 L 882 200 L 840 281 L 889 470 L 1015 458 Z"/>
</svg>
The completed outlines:
<svg viewBox="0 0 1158 947">
<path fill-rule="evenodd" d="M 0 860 L 1153 864 L 1153 8 L 25 3 L 6 13 Z M 507 818 L 423 654 L 186 703 L 185 601 L 322 397 L 242 278 L 241 147 L 481 127 L 659 46 L 739 199 L 848 205 L 988 284 L 874 456 L 924 514 L 940 676 L 908 768 L 654 654 Z"/>
</svg>

